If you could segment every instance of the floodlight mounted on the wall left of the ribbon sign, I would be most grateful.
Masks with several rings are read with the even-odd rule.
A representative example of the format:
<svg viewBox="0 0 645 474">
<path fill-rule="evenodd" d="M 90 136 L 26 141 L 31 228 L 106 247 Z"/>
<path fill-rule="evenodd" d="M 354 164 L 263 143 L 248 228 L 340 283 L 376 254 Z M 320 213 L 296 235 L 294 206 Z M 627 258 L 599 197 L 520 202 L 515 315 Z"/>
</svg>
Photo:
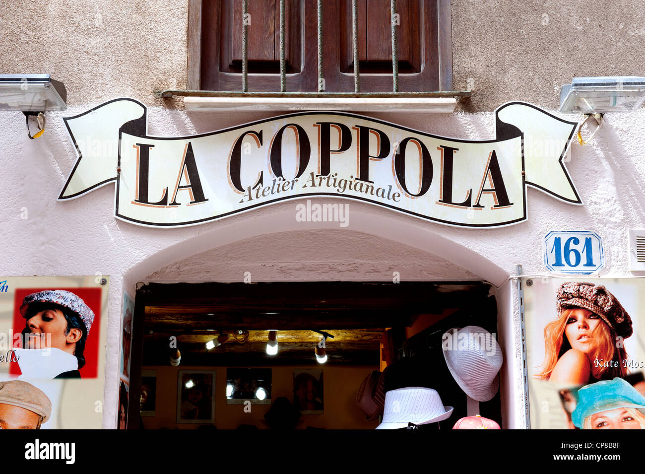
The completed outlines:
<svg viewBox="0 0 645 474">
<path fill-rule="evenodd" d="M 0 110 L 23 112 L 30 139 L 45 132 L 45 112 L 65 110 L 66 101 L 65 85 L 49 74 L 0 74 Z M 40 130 L 33 137 L 29 117 L 36 118 Z"/>
</svg>

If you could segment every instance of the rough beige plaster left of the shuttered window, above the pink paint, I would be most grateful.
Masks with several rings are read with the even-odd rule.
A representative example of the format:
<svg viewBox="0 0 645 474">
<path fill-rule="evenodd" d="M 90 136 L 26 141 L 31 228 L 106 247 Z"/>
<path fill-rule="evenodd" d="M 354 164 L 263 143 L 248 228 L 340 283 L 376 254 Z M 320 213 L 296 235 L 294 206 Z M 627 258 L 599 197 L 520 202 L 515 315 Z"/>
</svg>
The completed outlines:
<svg viewBox="0 0 645 474">
<path fill-rule="evenodd" d="M 128 96 L 174 106 L 153 91 L 186 88 L 187 28 L 187 1 L 6 1 L 0 69 L 51 74 L 68 104 Z"/>
</svg>

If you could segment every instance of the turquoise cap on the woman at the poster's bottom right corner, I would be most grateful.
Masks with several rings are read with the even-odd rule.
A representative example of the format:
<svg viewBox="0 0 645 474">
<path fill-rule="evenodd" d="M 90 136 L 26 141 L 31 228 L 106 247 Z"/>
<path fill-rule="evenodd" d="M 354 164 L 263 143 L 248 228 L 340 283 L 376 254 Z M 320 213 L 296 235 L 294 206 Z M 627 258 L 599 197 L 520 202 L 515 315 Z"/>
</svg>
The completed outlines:
<svg viewBox="0 0 645 474">
<path fill-rule="evenodd" d="M 619 377 L 585 385 L 578 390 L 578 404 L 571 413 L 571 420 L 577 428 L 582 428 L 586 417 L 616 408 L 645 410 L 645 397 Z"/>
</svg>

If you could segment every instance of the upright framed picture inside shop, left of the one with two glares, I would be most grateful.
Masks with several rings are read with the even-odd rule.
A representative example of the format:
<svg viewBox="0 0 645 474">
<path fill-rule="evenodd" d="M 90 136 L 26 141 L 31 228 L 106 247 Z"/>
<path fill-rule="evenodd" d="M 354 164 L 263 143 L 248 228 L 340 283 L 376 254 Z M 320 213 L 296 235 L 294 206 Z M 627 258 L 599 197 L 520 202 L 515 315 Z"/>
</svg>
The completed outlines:
<svg viewBox="0 0 645 474">
<path fill-rule="evenodd" d="M 215 370 L 180 370 L 177 423 L 215 423 Z"/>
</svg>

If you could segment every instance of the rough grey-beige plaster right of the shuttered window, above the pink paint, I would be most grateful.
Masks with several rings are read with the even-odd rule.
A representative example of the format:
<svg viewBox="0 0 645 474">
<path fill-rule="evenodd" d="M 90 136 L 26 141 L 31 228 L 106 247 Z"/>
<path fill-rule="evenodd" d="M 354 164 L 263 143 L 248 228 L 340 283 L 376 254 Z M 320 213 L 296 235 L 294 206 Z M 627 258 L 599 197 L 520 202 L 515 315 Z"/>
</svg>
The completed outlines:
<svg viewBox="0 0 645 474">
<path fill-rule="evenodd" d="M 644 75 L 642 3 L 452 0 L 453 87 L 464 109 L 522 100 L 558 108 L 572 77 Z"/>
</svg>

